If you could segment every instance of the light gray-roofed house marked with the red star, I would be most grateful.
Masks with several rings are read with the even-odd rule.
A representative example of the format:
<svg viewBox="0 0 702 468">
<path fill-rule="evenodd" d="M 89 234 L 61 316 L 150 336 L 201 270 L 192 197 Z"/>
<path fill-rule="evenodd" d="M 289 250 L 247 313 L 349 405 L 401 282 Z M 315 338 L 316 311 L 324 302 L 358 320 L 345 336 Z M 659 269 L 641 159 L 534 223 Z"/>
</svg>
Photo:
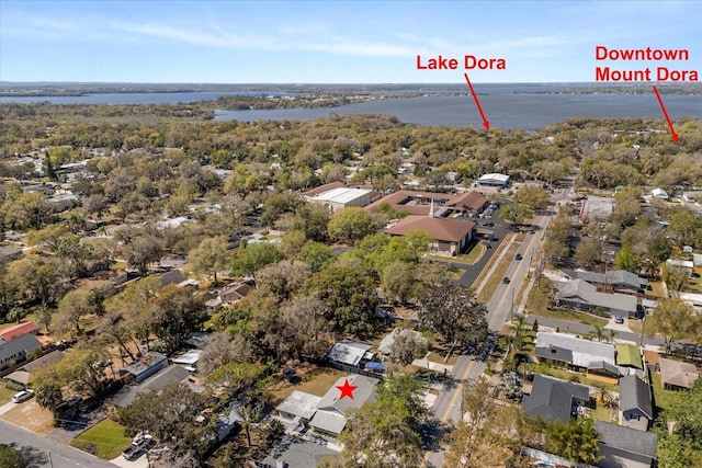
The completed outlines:
<svg viewBox="0 0 702 468">
<path fill-rule="evenodd" d="M 353 390 L 353 398 L 340 398 L 340 390 L 337 387 L 343 386 L 347 379 L 349 385 L 356 387 Z M 321 434 L 339 436 L 347 425 L 344 412 L 349 408 L 361 408 L 366 401 L 375 401 L 375 385 L 377 383 L 378 380 L 375 378 L 359 374 L 339 378 L 321 397 L 309 426 Z"/>
</svg>

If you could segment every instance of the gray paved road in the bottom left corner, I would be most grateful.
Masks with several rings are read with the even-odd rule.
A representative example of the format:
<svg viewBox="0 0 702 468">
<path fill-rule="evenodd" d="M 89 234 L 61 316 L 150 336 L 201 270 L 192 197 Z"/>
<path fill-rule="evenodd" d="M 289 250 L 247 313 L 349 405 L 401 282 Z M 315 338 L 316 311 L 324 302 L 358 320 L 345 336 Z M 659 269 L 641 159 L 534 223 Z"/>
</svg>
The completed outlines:
<svg viewBox="0 0 702 468">
<path fill-rule="evenodd" d="M 115 468 L 107 461 L 5 421 L 0 421 L 0 442 L 22 450 L 27 468 Z"/>
</svg>

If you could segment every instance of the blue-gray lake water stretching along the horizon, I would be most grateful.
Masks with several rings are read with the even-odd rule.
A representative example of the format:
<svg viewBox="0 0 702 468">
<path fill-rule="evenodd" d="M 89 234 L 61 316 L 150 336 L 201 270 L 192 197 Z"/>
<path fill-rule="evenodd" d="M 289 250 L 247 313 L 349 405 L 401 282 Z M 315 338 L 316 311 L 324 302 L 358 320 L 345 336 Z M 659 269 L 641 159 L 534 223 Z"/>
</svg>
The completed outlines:
<svg viewBox="0 0 702 468">
<path fill-rule="evenodd" d="M 653 94 L 571 94 L 573 83 L 475 84 L 487 119 L 492 127 L 539 129 L 573 117 L 591 118 L 663 118 Z M 592 87 L 592 84 L 587 84 Z M 412 90 L 416 91 L 416 90 Z M 437 91 L 440 91 L 439 89 Z M 672 119 L 695 116 L 702 118 L 702 95 L 665 94 L 661 98 Z M 192 103 L 216 100 L 227 94 L 281 94 L 257 92 L 178 92 L 178 93 L 104 93 L 82 96 L 0 96 L 0 103 L 55 104 L 160 104 Z M 388 114 L 401 122 L 418 125 L 473 125 L 482 128 L 482 118 L 469 95 L 428 95 L 421 98 L 378 99 L 338 107 L 282 109 L 257 111 L 215 111 L 215 119 L 312 121 L 330 114 Z"/>
</svg>

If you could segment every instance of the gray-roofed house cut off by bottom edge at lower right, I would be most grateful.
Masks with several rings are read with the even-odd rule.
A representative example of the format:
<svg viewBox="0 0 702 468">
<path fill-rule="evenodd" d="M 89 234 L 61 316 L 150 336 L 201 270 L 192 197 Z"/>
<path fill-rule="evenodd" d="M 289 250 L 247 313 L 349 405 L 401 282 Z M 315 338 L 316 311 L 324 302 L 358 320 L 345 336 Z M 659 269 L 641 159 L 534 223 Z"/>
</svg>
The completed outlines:
<svg viewBox="0 0 702 468">
<path fill-rule="evenodd" d="M 658 436 L 625 425 L 595 421 L 600 436 L 600 468 L 650 468 L 656 464 Z"/>
</svg>

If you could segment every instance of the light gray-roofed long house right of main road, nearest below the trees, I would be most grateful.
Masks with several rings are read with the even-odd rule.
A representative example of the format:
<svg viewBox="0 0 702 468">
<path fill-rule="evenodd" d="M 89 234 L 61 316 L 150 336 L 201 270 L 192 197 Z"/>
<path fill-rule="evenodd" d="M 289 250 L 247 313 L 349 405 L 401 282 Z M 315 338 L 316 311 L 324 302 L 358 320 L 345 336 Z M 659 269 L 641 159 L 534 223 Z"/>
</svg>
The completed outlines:
<svg viewBox="0 0 702 468">
<path fill-rule="evenodd" d="M 612 316 L 630 317 L 636 313 L 636 297 L 619 293 L 600 293 L 585 279 L 555 282 L 556 304 L 579 310 L 604 309 Z"/>
</svg>

